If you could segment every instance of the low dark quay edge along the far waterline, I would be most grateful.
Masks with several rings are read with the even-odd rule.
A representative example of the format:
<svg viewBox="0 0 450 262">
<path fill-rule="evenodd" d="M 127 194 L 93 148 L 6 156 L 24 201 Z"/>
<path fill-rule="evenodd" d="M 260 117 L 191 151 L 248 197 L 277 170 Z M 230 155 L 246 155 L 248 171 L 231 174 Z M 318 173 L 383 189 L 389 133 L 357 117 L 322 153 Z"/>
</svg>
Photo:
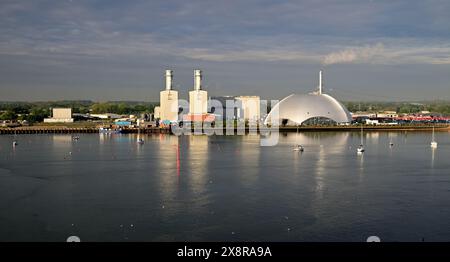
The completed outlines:
<svg viewBox="0 0 450 262">
<path fill-rule="evenodd" d="M 372 126 L 364 125 L 364 131 L 450 131 L 450 125 L 399 125 L 399 126 Z M 203 131 L 214 131 L 215 129 L 203 129 Z M 300 126 L 299 132 L 354 132 L 360 131 L 361 126 Z M 223 129 L 224 133 L 226 128 Z M 236 132 L 236 128 L 234 129 Z M 258 132 L 270 132 L 271 128 L 258 128 Z M 122 133 L 144 133 L 144 134 L 171 134 L 169 128 L 127 128 Z M 245 128 L 245 132 L 249 132 L 249 128 Z M 279 132 L 297 132 L 297 127 L 279 127 Z M 75 133 L 100 133 L 98 128 L 93 127 L 65 127 L 65 126 L 29 126 L 16 128 L 0 128 L 0 135 L 11 134 L 75 134 Z"/>
</svg>

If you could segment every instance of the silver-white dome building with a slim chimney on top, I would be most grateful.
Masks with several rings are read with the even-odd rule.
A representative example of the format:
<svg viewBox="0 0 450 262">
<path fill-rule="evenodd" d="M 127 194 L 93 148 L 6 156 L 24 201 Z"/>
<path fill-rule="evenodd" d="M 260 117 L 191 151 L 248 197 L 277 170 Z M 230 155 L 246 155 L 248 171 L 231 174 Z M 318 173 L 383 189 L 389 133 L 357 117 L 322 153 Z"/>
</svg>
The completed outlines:
<svg viewBox="0 0 450 262">
<path fill-rule="evenodd" d="M 323 94 L 322 89 L 322 71 L 320 71 L 319 91 L 285 97 L 272 108 L 264 124 L 273 123 L 276 118 L 279 119 L 279 124 L 286 125 L 301 125 L 311 118 L 327 118 L 336 123 L 350 123 L 352 117 L 347 108 L 332 96 Z"/>
</svg>

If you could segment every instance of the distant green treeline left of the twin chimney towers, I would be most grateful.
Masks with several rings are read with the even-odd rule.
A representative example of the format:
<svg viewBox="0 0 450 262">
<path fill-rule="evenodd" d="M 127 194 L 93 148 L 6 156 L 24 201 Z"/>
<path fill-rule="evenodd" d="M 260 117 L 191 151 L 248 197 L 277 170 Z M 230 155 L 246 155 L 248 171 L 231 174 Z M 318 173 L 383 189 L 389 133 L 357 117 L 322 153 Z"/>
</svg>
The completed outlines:
<svg viewBox="0 0 450 262">
<path fill-rule="evenodd" d="M 51 116 L 51 109 L 55 107 L 70 107 L 72 113 L 114 113 L 120 115 L 153 113 L 158 103 L 112 101 L 95 103 L 92 101 L 49 101 L 49 102 L 0 102 L 0 120 L 27 120 L 28 122 L 42 122 Z"/>
</svg>

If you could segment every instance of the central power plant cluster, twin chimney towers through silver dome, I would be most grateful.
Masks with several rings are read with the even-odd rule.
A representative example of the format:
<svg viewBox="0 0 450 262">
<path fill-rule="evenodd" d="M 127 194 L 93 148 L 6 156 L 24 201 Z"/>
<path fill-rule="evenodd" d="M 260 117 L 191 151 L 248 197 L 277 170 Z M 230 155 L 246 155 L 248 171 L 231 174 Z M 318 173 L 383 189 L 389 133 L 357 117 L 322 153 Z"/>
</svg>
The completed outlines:
<svg viewBox="0 0 450 262">
<path fill-rule="evenodd" d="M 274 120 L 275 113 L 280 124 L 284 125 L 301 125 L 311 118 L 330 119 L 336 123 L 352 121 L 344 105 L 323 93 L 322 71 L 317 92 L 292 94 L 274 105 L 267 116 L 261 112 L 259 96 L 208 97 L 208 92 L 202 88 L 202 71 L 198 69 L 194 70 L 194 88 L 189 92 L 189 112 L 183 112 L 178 92 L 172 88 L 173 71 L 166 70 L 165 76 L 166 88 L 160 93 L 160 106 L 155 108 L 155 118 L 162 124 L 231 120 L 269 124 Z M 178 113 L 181 113 L 181 118 Z"/>
</svg>

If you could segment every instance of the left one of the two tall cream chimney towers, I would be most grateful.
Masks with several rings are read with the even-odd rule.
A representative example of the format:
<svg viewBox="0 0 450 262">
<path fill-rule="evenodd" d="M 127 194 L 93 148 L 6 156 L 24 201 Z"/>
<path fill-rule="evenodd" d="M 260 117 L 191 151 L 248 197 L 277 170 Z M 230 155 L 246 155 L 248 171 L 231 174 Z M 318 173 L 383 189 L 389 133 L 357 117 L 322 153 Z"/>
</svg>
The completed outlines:
<svg viewBox="0 0 450 262">
<path fill-rule="evenodd" d="M 161 120 L 178 120 L 178 91 L 172 89 L 173 71 L 166 70 L 166 89 L 159 93 Z"/>
</svg>

